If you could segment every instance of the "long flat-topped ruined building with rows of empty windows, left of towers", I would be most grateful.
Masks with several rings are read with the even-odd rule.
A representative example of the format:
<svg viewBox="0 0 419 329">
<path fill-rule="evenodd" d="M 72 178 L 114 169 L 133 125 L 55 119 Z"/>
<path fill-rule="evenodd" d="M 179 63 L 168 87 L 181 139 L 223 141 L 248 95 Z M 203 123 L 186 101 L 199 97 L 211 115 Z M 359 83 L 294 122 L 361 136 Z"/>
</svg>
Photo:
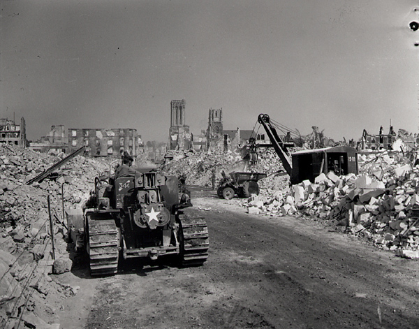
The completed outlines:
<svg viewBox="0 0 419 329">
<path fill-rule="evenodd" d="M 82 146 L 87 156 L 137 156 L 144 145 L 137 129 L 68 129 L 69 153 Z"/>
</svg>

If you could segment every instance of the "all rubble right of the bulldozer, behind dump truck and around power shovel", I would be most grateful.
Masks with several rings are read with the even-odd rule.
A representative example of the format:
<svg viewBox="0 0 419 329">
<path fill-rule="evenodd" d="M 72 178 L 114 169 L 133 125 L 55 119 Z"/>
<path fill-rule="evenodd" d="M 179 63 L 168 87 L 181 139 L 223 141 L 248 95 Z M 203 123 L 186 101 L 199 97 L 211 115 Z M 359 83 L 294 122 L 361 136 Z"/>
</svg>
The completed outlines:
<svg viewBox="0 0 419 329">
<path fill-rule="evenodd" d="M 239 200 L 251 214 L 295 214 L 322 221 L 336 231 L 367 237 L 376 246 L 409 258 L 419 257 L 419 166 L 402 152 L 359 154 L 359 171 L 338 177 L 331 172 L 291 186 L 274 152 L 258 154 L 254 172 L 267 173 L 260 180 L 259 196 Z M 179 154 L 163 167 L 172 175 L 185 175 L 186 183 L 203 187 L 216 182 L 221 170 L 242 171 L 244 162 L 235 152 Z"/>
</svg>

